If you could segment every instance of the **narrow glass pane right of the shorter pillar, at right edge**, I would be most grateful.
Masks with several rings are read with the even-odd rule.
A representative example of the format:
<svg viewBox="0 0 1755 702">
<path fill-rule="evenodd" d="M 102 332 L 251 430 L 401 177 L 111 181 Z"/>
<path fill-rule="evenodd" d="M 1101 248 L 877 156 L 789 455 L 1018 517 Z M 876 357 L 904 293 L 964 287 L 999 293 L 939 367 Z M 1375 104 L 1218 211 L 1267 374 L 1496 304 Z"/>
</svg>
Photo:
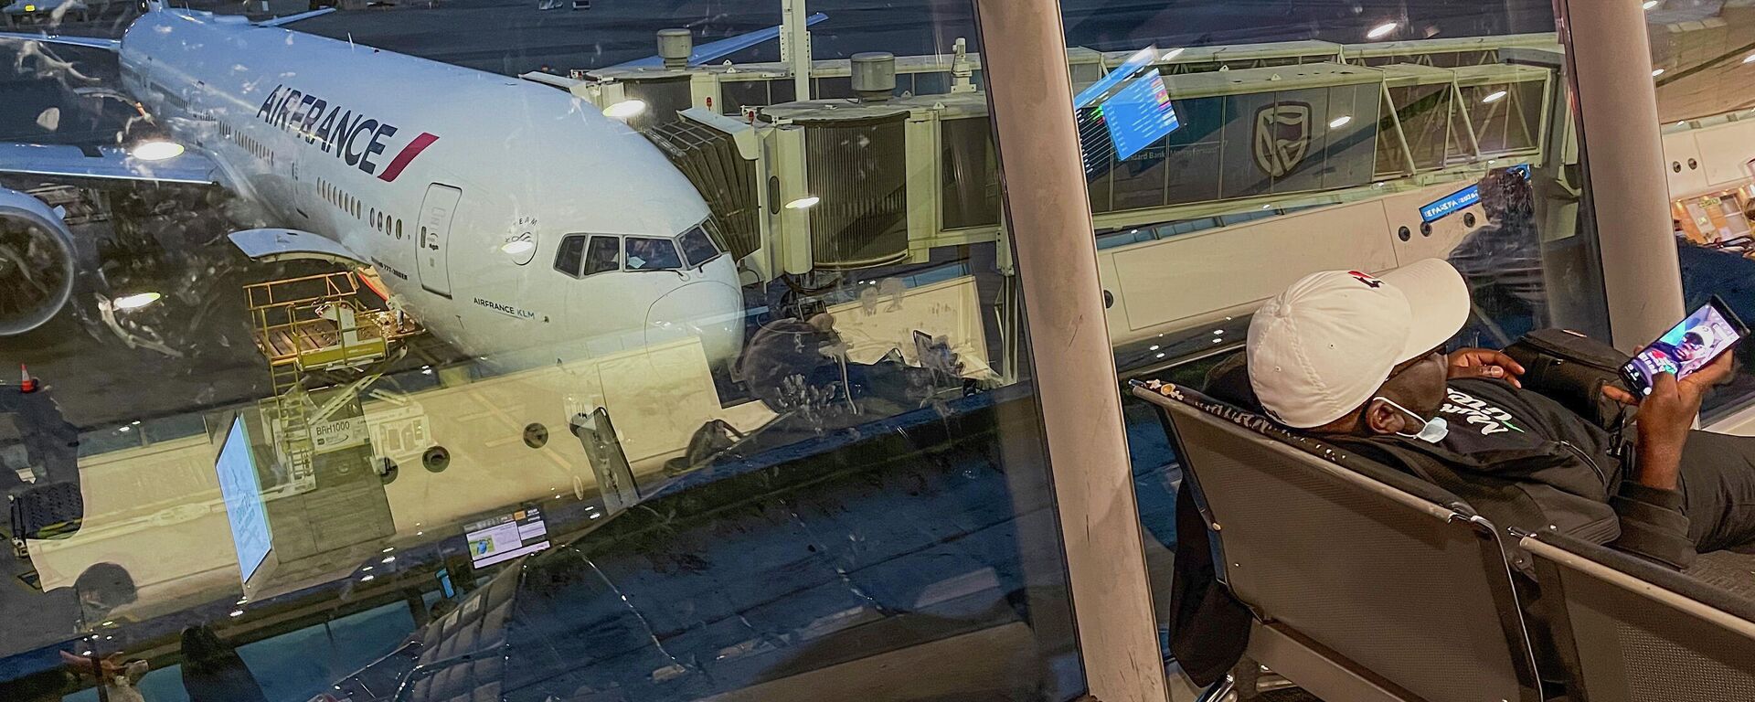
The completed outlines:
<svg viewBox="0 0 1755 702">
<path fill-rule="evenodd" d="M 1716 295 L 1748 323 L 1755 316 L 1755 121 L 1748 121 L 1755 116 L 1748 82 L 1755 75 L 1748 60 L 1755 14 L 1722 4 L 1658 2 L 1646 9 L 1646 21 L 1683 305 L 1692 312 Z M 1739 411 L 1755 402 L 1755 344 L 1737 346 L 1736 355 L 1737 376 L 1708 395 L 1701 421 L 1748 433 Z"/>
</svg>

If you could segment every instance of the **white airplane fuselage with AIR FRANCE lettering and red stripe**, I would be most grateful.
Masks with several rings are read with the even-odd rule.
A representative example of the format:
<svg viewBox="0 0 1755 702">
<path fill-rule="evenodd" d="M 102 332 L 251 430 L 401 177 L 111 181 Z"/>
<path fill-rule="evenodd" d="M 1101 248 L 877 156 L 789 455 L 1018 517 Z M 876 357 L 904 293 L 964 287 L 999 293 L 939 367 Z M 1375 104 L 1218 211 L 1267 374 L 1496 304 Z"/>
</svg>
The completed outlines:
<svg viewBox="0 0 1755 702">
<path fill-rule="evenodd" d="M 725 362 L 742 344 L 728 253 L 556 270 L 569 235 L 676 246 L 709 216 L 656 147 L 569 93 L 188 11 L 137 19 L 121 75 L 270 225 L 340 242 L 463 353 L 528 367 L 698 335 Z"/>
</svg>

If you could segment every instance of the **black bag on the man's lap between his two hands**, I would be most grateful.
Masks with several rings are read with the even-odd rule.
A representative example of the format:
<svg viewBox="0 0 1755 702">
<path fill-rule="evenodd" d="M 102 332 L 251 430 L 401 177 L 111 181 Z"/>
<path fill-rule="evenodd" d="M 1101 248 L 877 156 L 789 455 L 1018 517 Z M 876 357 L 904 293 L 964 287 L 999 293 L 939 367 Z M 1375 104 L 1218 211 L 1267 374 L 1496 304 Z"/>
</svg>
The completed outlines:
<svg viewBox="0 0 1755 702">
<path fill-rule="evenodd" d="M 1632 416 L 1632 409 L 1602 397 L 1604 386 L 1627 390 L 1622 367 L 1632 356 L 1609 344 L 1572 330 L 1536 330 L 1506 347 L 1506 355 L 1523 365 L 1525 388 L 1546 395 L 1592 419 L 1604 430 L 1616 432 Z"/>
</svg>

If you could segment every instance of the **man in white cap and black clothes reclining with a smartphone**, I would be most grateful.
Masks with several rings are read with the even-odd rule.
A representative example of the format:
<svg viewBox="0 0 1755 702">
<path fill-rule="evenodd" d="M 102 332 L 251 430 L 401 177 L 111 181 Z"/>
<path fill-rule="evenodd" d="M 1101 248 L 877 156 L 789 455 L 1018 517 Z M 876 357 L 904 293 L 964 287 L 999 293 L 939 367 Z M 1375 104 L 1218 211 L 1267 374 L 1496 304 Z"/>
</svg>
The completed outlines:
<svg viewBox="0 0 1755 702">
<path fill-rule="evenodd" d="M 1523 390 L 1497 351 L 1443 355 L 1469 288 L 1441 260 L 1381 279 L 1322 272 L 1267 300 L 1250 325 L 1248 377 L 1276 421 L 1462 497 L 1501 528 L 1562 532 L 1676 569 L 1755 542 L 1755 439 L 1694 432 L 1730 355 L 1658 376 L 1623 442 Z"/>
</svg>

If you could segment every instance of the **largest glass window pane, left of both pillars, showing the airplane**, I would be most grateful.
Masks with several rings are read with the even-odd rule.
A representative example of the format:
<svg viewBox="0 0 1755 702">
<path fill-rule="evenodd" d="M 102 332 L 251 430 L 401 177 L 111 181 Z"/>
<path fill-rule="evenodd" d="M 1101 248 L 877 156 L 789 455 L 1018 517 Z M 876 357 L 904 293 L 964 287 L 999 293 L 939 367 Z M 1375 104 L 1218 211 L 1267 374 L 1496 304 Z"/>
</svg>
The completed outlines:
<svg viewBox="0 0 1755 702">
<path fill-rule="evenodd" d="M 972 4 L 74 5 L 0 700 L 1086 691 Z"/>
</svg>

